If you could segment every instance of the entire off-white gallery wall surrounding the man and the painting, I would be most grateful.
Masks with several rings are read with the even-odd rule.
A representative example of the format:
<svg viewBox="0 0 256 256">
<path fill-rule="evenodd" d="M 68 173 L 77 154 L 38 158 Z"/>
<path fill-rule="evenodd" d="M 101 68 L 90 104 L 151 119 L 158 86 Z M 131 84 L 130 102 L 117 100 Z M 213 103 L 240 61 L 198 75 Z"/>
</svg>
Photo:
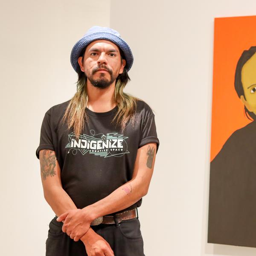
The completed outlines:
<svg viewBox="0 0 256 256">
<path fill-rule="evenodd" d="M 94 25 L 128 42 L 125 91 L 155 113 L 160 147 L 138 208 L 145 255 L 256 255 L 207 244 L 214 17 L 255 10 L 255 0 L 0 1 L 1 255 L 45 255 L 55 214 L 35 150 L 44 113 L 76 92 L 70 52 Z"/>
</svg>

